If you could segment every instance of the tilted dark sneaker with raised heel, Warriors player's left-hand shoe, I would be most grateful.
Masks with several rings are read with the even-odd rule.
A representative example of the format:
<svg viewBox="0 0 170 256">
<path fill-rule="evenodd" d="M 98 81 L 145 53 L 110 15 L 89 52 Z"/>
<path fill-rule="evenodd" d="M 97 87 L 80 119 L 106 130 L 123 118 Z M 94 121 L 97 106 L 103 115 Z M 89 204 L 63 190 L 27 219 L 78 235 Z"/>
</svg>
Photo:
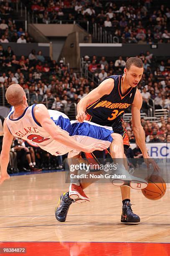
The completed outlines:
<svg viewBox="0 0 170 256">
<path fill-rule="evenodd" d="M 58 205 L 55 208 L 55 216 L 58 221 L 66 221 L 67 213 L 72 202 L 75 201 L 69 197 L 69 192 L 63 193 L 60 196 Z"/>
</svg>

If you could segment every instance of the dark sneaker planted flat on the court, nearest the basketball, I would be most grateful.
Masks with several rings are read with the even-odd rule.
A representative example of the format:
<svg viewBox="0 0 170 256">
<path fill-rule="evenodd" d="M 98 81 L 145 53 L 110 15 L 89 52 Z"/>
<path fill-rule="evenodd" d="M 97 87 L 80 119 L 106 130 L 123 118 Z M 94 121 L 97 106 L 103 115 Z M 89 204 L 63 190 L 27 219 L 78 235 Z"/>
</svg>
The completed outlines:
<svg viewBox="0 0 170 256">
<path fill-rule="evenodd" d="M 140 217 L 132 212 L 131 203 L 124 202 L 122 206 L 121 222 L 124 223 L 137 223 L 140 222 Z"/>
</svg>

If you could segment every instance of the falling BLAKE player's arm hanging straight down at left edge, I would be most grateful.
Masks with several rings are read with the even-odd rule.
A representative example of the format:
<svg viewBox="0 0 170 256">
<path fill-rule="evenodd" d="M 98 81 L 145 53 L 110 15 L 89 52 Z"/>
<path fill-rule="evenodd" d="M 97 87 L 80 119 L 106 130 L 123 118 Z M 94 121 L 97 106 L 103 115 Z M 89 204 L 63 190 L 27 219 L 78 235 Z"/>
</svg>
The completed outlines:
<svg viewBox="0 0 170 256">
<path fill-rule="evenodd" d="M 3 125 L 4 136 L 3 136 L 3 147 L 0 154 L 0 184 L 2 184 L 5 179 L 9 179 L 10 176 L 7 173 L 7 167 L 10 160 L 10 147 L 13 142 L 13 135 L 10 133 L 6 119 Z"/>
</svg>

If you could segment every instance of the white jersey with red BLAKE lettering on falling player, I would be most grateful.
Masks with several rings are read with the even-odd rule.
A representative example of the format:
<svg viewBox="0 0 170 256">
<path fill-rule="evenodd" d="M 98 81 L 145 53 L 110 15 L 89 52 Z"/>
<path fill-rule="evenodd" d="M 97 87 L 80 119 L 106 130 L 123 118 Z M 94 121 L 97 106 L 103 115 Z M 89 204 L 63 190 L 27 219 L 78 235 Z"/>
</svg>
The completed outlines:
<svg viewBox="0 0 170 256">
<path fill-rule="evenodd" d="M 7 125 L 10 133 L 25 141 L 37 143 L 40 148 L 55 156 L 63 155 L 71 151 L 71 148 L 55 141 L 41 124 L 37 122 L 33 113 L 34 107 L 35 105 L 26 108 L 24 113 L 17 119 L 11 118 L 14 112 L 14 108 L 12 108 L 7 117 Z M 54 123 L 69 135 L 71 124 L 68 116 L 57 110 L 48 110 L 48 113 Z"/>
</svg>

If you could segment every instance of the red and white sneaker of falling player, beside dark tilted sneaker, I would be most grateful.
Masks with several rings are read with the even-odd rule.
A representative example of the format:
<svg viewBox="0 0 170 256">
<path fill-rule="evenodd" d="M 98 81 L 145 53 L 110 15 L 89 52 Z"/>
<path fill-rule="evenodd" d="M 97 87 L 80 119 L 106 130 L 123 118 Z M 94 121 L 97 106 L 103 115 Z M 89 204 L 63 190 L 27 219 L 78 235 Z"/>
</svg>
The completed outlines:
<svg viewBox="0 0 170 256">
<path fill-rule="evenodd" d="M 77 186 L 76 184 L 70 184 L 69 197 L 74 199 L 78 204 L 83 202 L 90 202 L 89 197 L 86 196 L 81 186 Z"/>
</svg>

